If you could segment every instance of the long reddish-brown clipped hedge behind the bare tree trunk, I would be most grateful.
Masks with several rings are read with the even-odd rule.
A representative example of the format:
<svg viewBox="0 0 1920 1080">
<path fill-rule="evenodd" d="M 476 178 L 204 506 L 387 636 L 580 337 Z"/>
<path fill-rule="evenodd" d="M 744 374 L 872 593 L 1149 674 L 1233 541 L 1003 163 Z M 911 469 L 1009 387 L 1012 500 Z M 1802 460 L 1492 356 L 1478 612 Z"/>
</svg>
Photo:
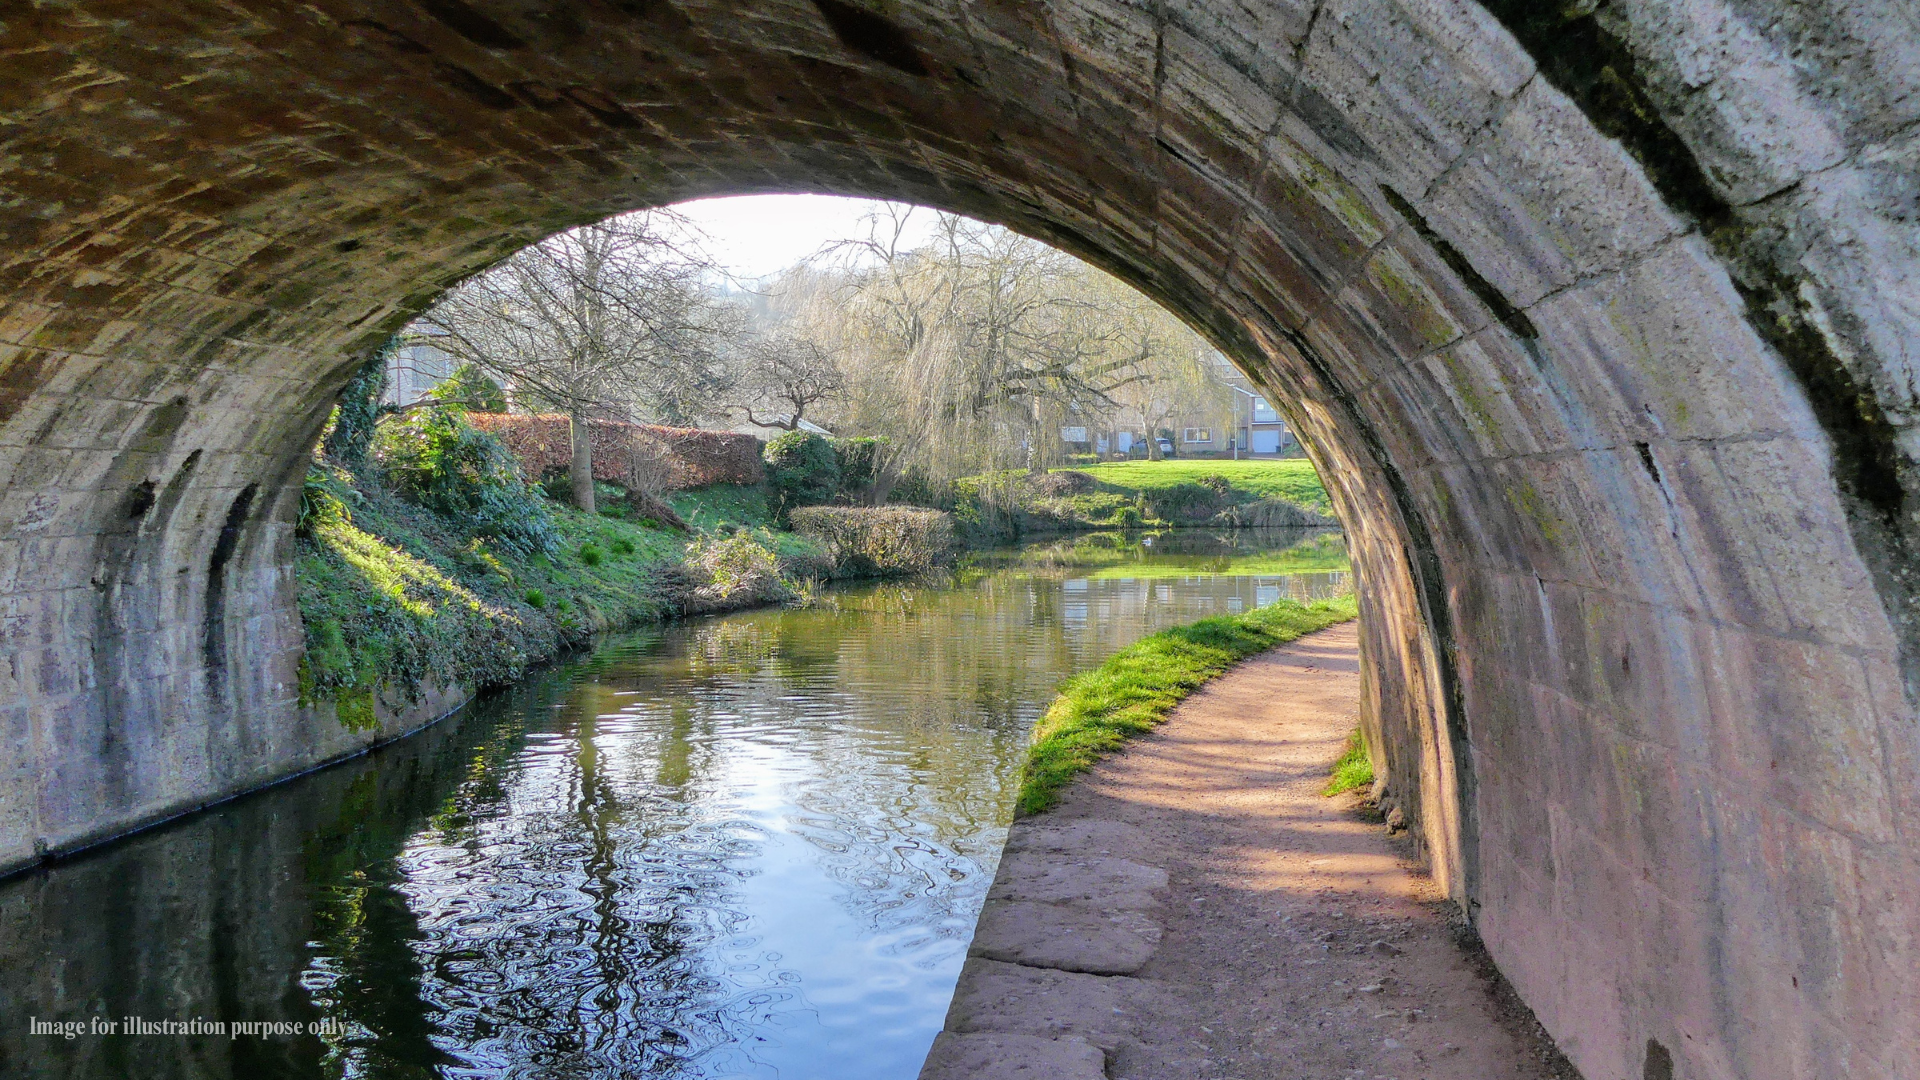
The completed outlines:
<svg viewBox="0 0 1920 1080">
<path fill-rule="evenodd" d="M 528 477 L 540 479 L 572 463 L 572 436 L 564 415 L 467 413 L 467 419 L 505 442 Z M 588 421 L 588 430 L 593 440 L 595 480 L 680 490 L 758 484 L 766 479 L 760 440 L 751 434 L 622 421 Z M 636 484 L 637 477 L 653 482 Z"/>
</svg>

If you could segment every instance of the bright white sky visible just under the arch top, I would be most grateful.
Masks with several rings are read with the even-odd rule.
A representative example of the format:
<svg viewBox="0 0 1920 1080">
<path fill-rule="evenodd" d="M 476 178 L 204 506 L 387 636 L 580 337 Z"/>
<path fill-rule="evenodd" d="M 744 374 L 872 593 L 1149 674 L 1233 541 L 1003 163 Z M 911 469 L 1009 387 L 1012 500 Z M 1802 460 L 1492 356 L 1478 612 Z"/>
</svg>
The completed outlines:
<svg viewBox="0 0 1920 1080">
<path fill-rule="evenodd" d="M 780 273 L 833 240 L 866 238 L 862 221 L 885 204 L 828 194 L 755 194 L 703 198 L 676 206 L 703 233 L 701 244 L 733 277 L 751 281 Z M 933 211 L 916 208 L 908 219 L 908 248 L 933 227 Z"/>
</svg>

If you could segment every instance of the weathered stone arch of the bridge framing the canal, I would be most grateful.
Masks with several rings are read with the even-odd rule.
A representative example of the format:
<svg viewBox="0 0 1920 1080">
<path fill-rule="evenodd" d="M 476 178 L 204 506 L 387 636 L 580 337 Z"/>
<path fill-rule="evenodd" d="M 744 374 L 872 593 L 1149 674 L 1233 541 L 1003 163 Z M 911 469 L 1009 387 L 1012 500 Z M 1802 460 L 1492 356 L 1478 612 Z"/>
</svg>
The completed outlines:
<svg viewBox="0 0 1920 1080">
<path fill-rule="evenodd" d="M 607 213 L 876 194 L 1290 402 L 1386 796 L 1588 1076 L 1914 1076 L 1920 31 L 1534 8 L 0 8 L 0 865 L 355 746 L 288 532 L 369 342 Z"/>
</svg>

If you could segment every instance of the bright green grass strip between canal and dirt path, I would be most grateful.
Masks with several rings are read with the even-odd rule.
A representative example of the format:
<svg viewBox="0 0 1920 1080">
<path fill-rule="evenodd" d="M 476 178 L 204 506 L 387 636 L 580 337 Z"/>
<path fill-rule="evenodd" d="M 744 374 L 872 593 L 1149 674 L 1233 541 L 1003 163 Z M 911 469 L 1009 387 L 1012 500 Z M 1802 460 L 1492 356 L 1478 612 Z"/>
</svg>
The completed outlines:
<svg viewBox="0 0 1920 1080">
<path fill-rule="evenodd" d="M 1154 730 L 1173 705 L 1242 659 L 1357 615 L 1354 596 L 1311 605 L 1283 600 L 1244 615 L 1173 626 L 1075 675 L 1033 728 L 1016 813 L 1041 813 L 1060 792 L 1123 742 Z"/>
</svg>

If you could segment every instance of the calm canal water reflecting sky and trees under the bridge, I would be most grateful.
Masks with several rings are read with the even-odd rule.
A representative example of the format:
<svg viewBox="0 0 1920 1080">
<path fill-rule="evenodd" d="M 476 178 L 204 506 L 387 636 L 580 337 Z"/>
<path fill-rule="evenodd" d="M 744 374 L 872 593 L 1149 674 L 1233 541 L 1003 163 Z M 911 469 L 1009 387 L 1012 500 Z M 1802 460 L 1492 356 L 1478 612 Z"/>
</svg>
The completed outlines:
<svg viewBox="0 0 1920 1080">
<path fill-rule="evenodd" d="M 0 882 L 0 1076 L 912 1080 L 1058 682 L 1350 588 L 1336 532 L 1094 534 L 612 636 Z"/>
</svg>

